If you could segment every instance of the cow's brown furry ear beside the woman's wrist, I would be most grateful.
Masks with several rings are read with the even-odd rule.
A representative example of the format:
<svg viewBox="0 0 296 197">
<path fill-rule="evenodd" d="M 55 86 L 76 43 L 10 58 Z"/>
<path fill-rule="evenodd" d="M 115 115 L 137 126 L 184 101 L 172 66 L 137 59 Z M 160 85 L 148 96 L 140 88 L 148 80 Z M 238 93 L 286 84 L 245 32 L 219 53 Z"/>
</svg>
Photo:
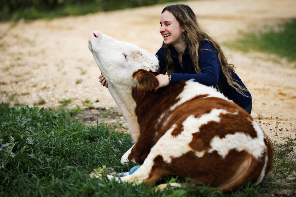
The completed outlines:
<svg viewBox="0 0 296 197">
<path fill-rule="evenodd" d="M 152 91 L 158 86 L 158 80 L 155 77 L 154 72 L 140 69 L 133 74 L 133 78 L 138 81 L 138 91 L 146 92 Z"/>
</svg>

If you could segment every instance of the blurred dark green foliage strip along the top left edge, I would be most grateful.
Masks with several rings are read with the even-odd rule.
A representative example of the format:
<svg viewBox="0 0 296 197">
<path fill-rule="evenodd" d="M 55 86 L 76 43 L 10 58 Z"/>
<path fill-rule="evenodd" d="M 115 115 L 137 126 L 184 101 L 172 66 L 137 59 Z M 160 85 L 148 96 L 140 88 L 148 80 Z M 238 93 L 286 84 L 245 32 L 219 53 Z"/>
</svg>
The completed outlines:
<svg viewBox="0 0 296 197">
<path fill-rule="evenodd" d="M 165 2 L 173 0 L 0 0 L 0 21 L 55 18 Z"/>
</svg>

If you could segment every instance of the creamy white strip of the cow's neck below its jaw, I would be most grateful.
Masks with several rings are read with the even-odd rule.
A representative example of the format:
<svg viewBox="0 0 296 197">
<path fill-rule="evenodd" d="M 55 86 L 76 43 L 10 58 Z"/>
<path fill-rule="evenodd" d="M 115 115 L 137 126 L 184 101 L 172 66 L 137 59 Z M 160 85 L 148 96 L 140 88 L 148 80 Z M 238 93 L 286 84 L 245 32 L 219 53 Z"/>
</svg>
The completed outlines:
<svg viewBox="0 0 296 197">
<path fill-rule="evenodd" d="M 135 114 L 136 103 L 131 96 L 131 88 L 120 86 L 116 89 L 109 84 L 108 89 L 116 104 L 120 108 L 122 116 L 128 124 L 130 135 L 136 143 L 140 133 L 140 127 Z"/>
</svg>

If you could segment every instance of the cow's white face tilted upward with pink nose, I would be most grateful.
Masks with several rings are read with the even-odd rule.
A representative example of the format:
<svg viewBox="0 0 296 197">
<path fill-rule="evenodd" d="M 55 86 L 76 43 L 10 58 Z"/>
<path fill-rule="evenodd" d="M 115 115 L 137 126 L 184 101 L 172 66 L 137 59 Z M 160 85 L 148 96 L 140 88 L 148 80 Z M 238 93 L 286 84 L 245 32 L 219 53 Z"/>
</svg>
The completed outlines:
<svg viewBox="0 0 296 197">
<path fill-rule="evenodd" d="M 139 69 L 156 71 L 159 68 L 155 55 L 138 46 L 117 41 L 94 31 L 89 36 L 88 48 L 109 84 L 135 86 L 132 75 Z"/>
</svg>

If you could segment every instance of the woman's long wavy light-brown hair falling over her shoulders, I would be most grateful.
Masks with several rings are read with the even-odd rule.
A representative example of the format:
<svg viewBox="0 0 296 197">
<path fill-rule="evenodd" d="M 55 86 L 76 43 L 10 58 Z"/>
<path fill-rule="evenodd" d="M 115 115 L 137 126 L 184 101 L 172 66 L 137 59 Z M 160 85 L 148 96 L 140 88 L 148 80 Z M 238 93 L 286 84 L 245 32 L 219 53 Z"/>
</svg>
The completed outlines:
<svg viewBox="0 0 296 197">
<path fill-rule="evenodd" d="M 200 66 L 199 66 L 199 56 L 198 56 L 199 43 L 201 41 L 208 41 L 214 46 L 214 49 L 217 52 L 221 70 L 225 75 L 228 84 L 240 94 L 247 96 L 244 93 L 244 91 L 246 91 L 247 89 L 242 87 L 239 83 L 237 83 L 236 80 L 232 78 L 231 70 L 234 72 L 234 69 L 235 69 L 234 65 L 229 64 L 227 62 L 227 59 L 225 58 L 225 55 L 221 50 L 219 44 L 213 38 L 211 38 L 208 34 L 206 34 L 201 26 L 199 26 L 196 20 L 196 16 L 192 11 L 192 9 L 189 6 L 184 4 L 175 4 L 175 5 L 170 5 L 165 7 L 162 10 L 162 13 L 165 12 L 166 10 L 170 11 L 175 16 L 177 21 L 180 23 L 180 26 L 184 27 L 185 29 L 185 32 L 184 32 L 186 37 L 185 42 L 188 46 L 188 52 L 194 64 L 195 72 L 201 73 Z M 173 59 L 171 58 L 171 50 L 170 50 L 171 46 L 169 44 L 165 44 L 164 42 L 162 42 L 162 47 L 165 49 L 164 54 L 165 54 L 165 60 L 167 63 L 167 72 L 174 73 L 175 69 L 173 65 Z M 203 50 L 207 50 L 207 49 L 203 49 Z"/>
</svg>

